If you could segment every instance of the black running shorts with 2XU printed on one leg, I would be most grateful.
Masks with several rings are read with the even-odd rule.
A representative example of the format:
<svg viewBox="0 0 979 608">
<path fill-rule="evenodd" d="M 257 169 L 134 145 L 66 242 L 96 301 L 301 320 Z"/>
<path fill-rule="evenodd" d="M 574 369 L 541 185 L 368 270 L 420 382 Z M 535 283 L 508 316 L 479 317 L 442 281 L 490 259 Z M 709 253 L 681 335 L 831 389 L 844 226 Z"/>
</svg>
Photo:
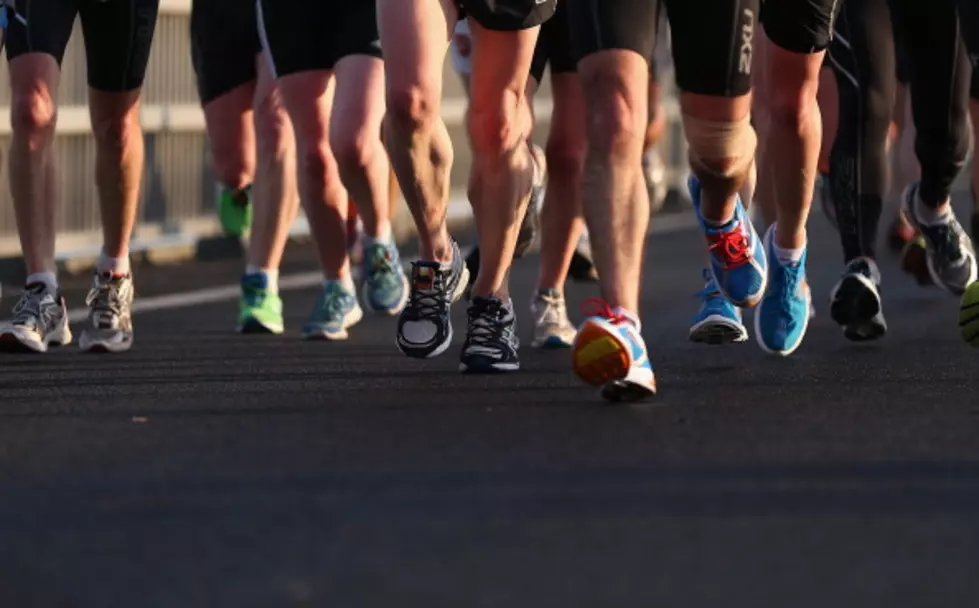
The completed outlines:
<svg viewBox="0 0 979 608">
<path fill-rule="evenodd" d="M 751 90 L 758 0 L 572 0 L 568 17 L 576 59 L 622 49 L 649 61 L 663 8 L 680 89 L 724 97 Z"/>
</svg>

